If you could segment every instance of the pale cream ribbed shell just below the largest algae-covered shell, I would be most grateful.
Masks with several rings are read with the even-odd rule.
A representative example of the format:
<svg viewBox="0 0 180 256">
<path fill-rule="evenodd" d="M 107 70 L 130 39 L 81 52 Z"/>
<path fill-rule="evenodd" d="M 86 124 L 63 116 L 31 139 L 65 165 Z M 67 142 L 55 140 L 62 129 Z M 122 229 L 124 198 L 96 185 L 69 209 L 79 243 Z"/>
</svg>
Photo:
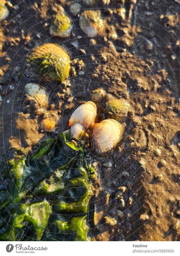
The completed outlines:
<svg viewBox="0 0 180 256">
<path fill-rule="evenodd" d="M 34 98 L 36 108 L 48 105 L 48 95 L 45 87 L 42 87 L 39 84 L 29 83 L 26 84 L 25 92 Z"/>
</svg>

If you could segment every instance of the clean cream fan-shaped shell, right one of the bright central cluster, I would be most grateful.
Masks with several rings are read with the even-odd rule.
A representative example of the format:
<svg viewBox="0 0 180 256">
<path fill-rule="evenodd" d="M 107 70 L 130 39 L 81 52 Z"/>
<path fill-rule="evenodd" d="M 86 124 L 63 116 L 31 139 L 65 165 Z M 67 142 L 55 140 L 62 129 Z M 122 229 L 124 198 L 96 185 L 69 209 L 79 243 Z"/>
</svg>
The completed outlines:
<svg viewBox="0 0 180 256">
<path fill-rule="evenodd" d="M 105 119 L 93 126 L 89 136 L 91 150 L 101 154 L 116 147 L 123 133 L 122 125 L 114 119 Z"/>
</svg>

